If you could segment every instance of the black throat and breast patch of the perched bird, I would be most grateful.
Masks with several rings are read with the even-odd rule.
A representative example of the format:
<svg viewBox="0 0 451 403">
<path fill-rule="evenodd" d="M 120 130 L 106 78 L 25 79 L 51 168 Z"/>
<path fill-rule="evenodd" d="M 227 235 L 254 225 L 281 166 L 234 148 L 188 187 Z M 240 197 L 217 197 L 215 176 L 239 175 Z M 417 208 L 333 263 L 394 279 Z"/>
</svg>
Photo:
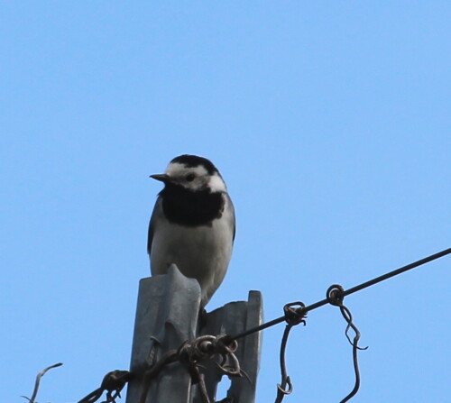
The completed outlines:
<svg viewBox="0 0 451 403">
<path fill-rule="evenodd" d="M 225 199 L 222 193 L 207 188 L 192 191 L 178 185 L 166 184 L 160 192 L 164 215 L 171 223 L 198 226 L 220 218 Z"/>
</svg>

